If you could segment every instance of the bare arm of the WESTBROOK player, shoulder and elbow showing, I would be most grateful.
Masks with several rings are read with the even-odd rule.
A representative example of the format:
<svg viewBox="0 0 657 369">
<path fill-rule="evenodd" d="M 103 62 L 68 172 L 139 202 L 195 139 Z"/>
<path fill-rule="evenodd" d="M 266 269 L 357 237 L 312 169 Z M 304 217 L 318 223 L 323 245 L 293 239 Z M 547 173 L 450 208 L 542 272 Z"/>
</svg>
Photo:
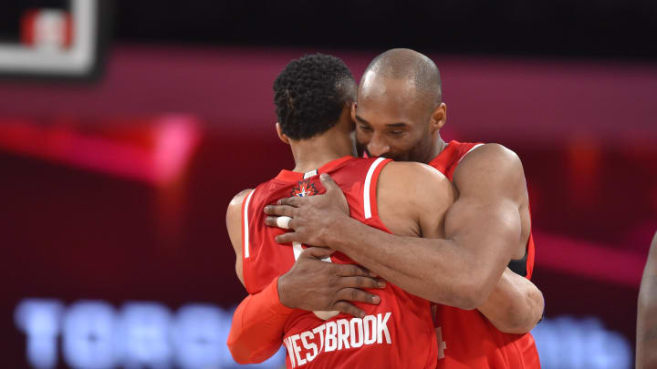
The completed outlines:
<svg viewBox="0 0 657 369">
<path fill-rule="evenodd" d="M 404 180 L 409 178 L 413 179 L 411 183 Z M 455 197 L 449 180 L 423 164 L 390 163 L 381 171 L 379 216 L 397 235 L 444 238 L 445 213 Z M 542 317 L 543 306 L 543 295 L 534 283 L 506 268 L 493 292 L 477 309 L 502 332 L 527 333 Z"/>
</svg>

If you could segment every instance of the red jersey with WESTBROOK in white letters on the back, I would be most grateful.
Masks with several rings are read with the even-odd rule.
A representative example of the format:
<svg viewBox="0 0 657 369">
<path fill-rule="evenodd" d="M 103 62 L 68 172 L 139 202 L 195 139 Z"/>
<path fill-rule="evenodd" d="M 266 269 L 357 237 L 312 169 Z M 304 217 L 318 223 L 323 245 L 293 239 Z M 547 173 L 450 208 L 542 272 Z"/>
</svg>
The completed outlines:
<svg viewBox="0 0 657 369">
<path fill-rule="evenodd" d="M 298 244 L 274 241 L 283 231 L 266 226 L 263 208 L 281 198 L 324 192 L 320 173 L 330 174 L 343 190 L 351 218 L 388 231 L 378 216 L 376 187 L 389 161 L 345 157 L 306 174 L 282 170 L 249 193 L 242 207 L 246 290 L 262 291 L 292 267 L 302 250 Z M 353 263 L 339 252 L 325 261 Z M 287 368 L 435 368 L 438 350 L 431 303 L 392 283 L 372 292 L 381 296 L 379 305 L 354 302 L 366 313 L 362 319 L 339 314 L 324 321 L 312 312 L 292 313 L 282 337 Z"/>
</svg>

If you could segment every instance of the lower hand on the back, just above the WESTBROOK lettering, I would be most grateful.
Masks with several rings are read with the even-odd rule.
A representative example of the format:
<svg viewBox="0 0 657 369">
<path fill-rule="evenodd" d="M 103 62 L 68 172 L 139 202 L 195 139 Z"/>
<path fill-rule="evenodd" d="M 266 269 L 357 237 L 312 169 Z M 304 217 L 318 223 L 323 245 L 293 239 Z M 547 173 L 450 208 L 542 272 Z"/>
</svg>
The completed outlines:
<svg viewBox="0 0 657 369">
<path fill-rule="evenodd" d="M 384 288 L 385 282 L 355 264 L 321 261 L 333 252 L 318 247 L 301 252 L 289 272 L 278 278 L 280 302 L 290 308 L 339 311 L 360 318 L 365 312 L 348 301 L 379 304 L 381 297 L 362 289 Z"/>
</svg>

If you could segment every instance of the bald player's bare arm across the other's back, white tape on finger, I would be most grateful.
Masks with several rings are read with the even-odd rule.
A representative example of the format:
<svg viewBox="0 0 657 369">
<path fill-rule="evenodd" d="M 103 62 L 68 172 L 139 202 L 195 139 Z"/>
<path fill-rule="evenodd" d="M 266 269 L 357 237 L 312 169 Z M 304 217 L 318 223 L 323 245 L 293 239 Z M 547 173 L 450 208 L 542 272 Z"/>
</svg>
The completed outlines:
<svg viewBox="0 0 657 369">
<path fill-rule="evenodd" d="M 330 245 L 408 292 L 474 309 L 486 301 L 521 242 L 519 209 L 527 188 L 520 160 L 497 145 L 469 154 L 454 183 L 460 196 L 447 210 L 444 239 L 392 235 L 352 220 L 335 207 L 301 209 L 303 203 L 297 202 L 299 209 L 287 214 L 275 210 L 278 215 L 303 214 L 303 229 L 293 227 L 295 232 L 278 241 Z"/>
</svg>

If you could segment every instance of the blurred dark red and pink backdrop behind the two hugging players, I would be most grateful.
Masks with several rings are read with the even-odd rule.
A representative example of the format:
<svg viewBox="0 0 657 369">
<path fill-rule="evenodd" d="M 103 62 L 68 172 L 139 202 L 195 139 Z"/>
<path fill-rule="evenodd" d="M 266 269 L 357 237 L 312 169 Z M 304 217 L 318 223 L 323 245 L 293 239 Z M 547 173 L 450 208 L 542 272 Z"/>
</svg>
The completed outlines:
<svg viewBox="0 0 657 369">
<path fill-rule="evenodd" d="M 374 56 L 325 51 L 356 77 Z M 96 85 L 0 83 L 7 352 L 24 351 L 11 314 L 25 297 L 239 302 L 225 207 L 292 167 L 271 85 L 303 52 L 122 46 Z M 433 60 L 443 138 L 500 142 L 523 159 L 547 316 L 597 315 L 633 341 L 657 230 L 657 67 Z"/>
</svg>

